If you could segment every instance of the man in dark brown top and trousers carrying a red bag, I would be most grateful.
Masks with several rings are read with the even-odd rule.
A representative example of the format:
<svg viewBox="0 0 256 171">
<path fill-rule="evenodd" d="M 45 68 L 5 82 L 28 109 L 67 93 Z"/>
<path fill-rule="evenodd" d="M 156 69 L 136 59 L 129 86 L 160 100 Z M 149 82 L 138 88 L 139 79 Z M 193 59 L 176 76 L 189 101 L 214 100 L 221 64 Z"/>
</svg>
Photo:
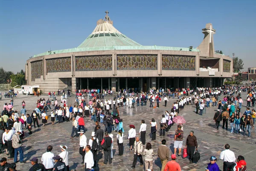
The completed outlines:
<svg viewBox="0 0 256 171">
<path fill-rule="evenodd" d="M 186 146 L 187 148 L 187 152 L 188 152 L 188 155 L 189 155 L 189 161 L 190 163 L 192 163 L 193 161 L 193 155 L 194 155 L 194 152 L 195 150 L 198 150 L 198 143 L 197 143 L 197 139 L 196 139 L 196 136 L 194 136 L 194 131 L 191 130 L 187 139 L 186 139 Z"/>
</svg>

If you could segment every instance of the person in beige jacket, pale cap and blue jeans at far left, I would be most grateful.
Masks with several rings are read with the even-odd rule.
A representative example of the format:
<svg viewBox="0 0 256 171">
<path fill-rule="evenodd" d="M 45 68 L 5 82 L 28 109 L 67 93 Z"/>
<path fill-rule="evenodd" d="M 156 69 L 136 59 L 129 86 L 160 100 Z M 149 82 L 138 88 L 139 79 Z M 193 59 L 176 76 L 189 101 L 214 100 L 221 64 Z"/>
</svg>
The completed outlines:
<svg viewBox="0 0 256 171">
<path fill-rule="evenodd" d="M 18 156 L 18 152 L 20 154 L 20 163 L 25 163 L 23 161 L 24 159 L 24 155 L 23 155 L 23 150 L 21 148 L 22 145 L 22 141 L 20 139 L 20 134 L 22 134 L 22 130 L 18 130 L 17 133 L 15 133 L 12 136 L 12 147 L 14 148 L 14 162 L 17 163 L 17 156 Z"/>
</svg>

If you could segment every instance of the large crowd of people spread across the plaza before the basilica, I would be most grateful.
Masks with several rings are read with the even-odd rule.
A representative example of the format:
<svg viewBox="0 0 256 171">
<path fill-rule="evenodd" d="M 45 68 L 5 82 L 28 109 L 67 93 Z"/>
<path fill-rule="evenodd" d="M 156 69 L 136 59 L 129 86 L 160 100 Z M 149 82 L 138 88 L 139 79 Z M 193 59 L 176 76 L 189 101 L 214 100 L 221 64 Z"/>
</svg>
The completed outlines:
<svg viewBox="0 0 256 171">
<path fill-rule="evenodd" d="M 68 91 L 69 92 L 69 91 Z M 241 92 L 247 92 L 247 110 L 241 115 L 241 105 L 243 101 L 241 99 Z M 219 100 L 221 94 L 223 93 L 224 98 Z M 174 118 L 179 115 L 179 113 L 189 105 L 195 105 L 195 113 L 203 114 L 205 107 L 217 107 L 217 112 L 215 113 L 214 120 L 216 122 L 217 129 L 219 128 L 221 120 L 223 121 L 223 126 L 226 125 L 230 120 L 230 132 L 236 133 L 245 131 L 248 132 L 248 137 L 250 137 L 250 130 L 254 128 L 254 122 L 256 113 L 255 110 L 250 110 L 249 107 L 254 107 L 255 105 L 255 88 L 254 87 L 235 87 L 235 86 L 225 86 L 218 87 L 214 89 L 208 88 L 197 88 L 196 90 L 191 89 L 176 89 L 171 91 L 169 89 L 160 90 L 149 90 L 148 92 L 134 93 L 131 91 L 119 91 L 114 96 L 111 96 L 113 92 L 111 90 L 105 90 L 100 93 L 99 90 L 77 90 L 76 91 L 76 101 L 72 105 L 67 104 L 67 94 L 64 91 L 58 91 L 60 96 L 60 101 L 55 99 L 45 100 L 38 99 L 35 104 L 35 110 L 32 114 L 26 112 L 26 103 L 22 101 L 20 114 L 17 110 L 14 111 L 13 100 L 10 104 L 5 104 L 3 106 L 2 116 L 0 117 L 0 141 L 2 141 L 3 146 L 0 146 L 0 153 L 6 152 L 9 158 L 14 158 L 14 162 L 17 163 L 17 154 L 20 154 L 19 162 L 23 161 L 23 150 L 22 139 L 24 136 L 24 130 L 27 129 L 29 134 L 32 133 L 32 125 L 34 128 L 36 126 L 39 128 L 38 119 L 42 119 L 43 126 L 46 126 L 48 120 L 47 112 L 50 111 L 51 124 L 55 125 L 58 123 L 72 121 L 72 133 L 70 138 L 79 137 L 79 154 L 82 157 L 82 164 L 85 166 L 85 170 L 90 170 L 96 167 L 97 163 L 97 152 L 103 151 L 104 153 L 104 164 L 111 164 L 113 159 L 113 146 L 116 144 L 118 146 L 119 156 L 123 155 L 124 137 L 129 140 L 129 150 L 134 150 L 134 160 L 131 168 L 135 168 L 137 164 L 137 158 L 140 159 L 140 165 L 145 164 L 145 171 L 153 170 L 153 156 L 154 151 L 151 147 L 151 142 L 145 141 L 145 136 L 147 130 L 147 124 L 150 125 L 150 136 L 151 141 L 156 139 L 157 130 L 160 128 L 160 136 L 163 136 L 162 145 L 159 146 L 157 151 L 157 156 L 160 158 L 162 167 L 161 171 L 171 171 L 175 168 L 177 171 L 181 171 L 179 164 L 175 161 L 177 156 L 181 156 L 181 148 L 183 146 L 183 125 L 177 124 L 174 135 L 174 154 L 169 155 L 169 148 L 166 147 L 166 138 L 164 138 L 166 132 L 168 132 L 171 127 L 175 124 Z M 55 92 L 48 94 L 49 98 L 54 96 L 56 98 Z M 70 92 L 68 93 L 70 96 Z M 87 99 L 85 98 L 87 96 Z M 106 98 L 109 96 L 109 98 Z M 134 125 L 129 125 L 129 130 L 125 136 L 125 130 L 123 128 L 123 120 L 121 119 L 121 114 L 119 112 L 120 107 L 140 107 L 146 106 L 147 102 L 150 103 L 149 107 L 160 107 L 159 103 L 161 98 L 164 101 L 165 107 L 167 107 L 167 101 L 172 98 L 177 98 L 171 106 L 170 112 L 166 110 L 162 119 L 158 122 L 152 118 L 150 121 L 141 120 L 140 129 L 137 131 Z M 104 99 L 105 98 L 105 99 Z M 88 101 L 88 103 L 86 103 Z M 112 106 L 113 104 L 113 106 Z M 136 105 L 135 105 L 136 104 Z M 154 104 L 154 105 L 153 105 Z M 237 106 L 237 107 L 235 107 Z M 87 137 L 85 136 L 85 118 L 90 117 L 91 122 L 95 122 L 94 131 L 91 133 L 91 137 L 87 143 Z M 87 120 L 86 120 L 87 121 Z M 159 123 L 159 124 L 158 124 Z M 157 125 L 159 125 L 157 129 Z M 235 125 L 235 129 L 234 129 Z M 104 126 L 104 128 L 103 128 Z M 116 132 L 116 136 L 114 136 Z M 105 137 L 104 137 L 105 135 Z M 114 140 L 116 139 L 116 140 Z M 116 141 L 116 143 L 114 143 Z M 52 146 L 47 147 L 47 152 L 43 154 L 41 163 L 38 163 L 36 157 L 31 159 L 31 164 L 33 165 L 31 170 L 35 169 L 47 169 L 58 170 L 58 171 L 69 171 L 68 164 L 68 151 L 66 145 L 61 145 L 61 153 L 57 156 L 51 153 Z M 193 162 L 193 155 L 195 151 L 198 150 L 198 143 L 193 130 L 189 132 L 189 136 L 186 139 L 185 148 L 187 149 L 187 154 L 189 156 L 190 163 Z M 226 145 L 225 145 L 226 148 Z M 230 147 L 227 146 L 226 150 Z M 177 152 L 178 149 L 178 152 Z M 177 156 L 176 156 L 177 152 Z M 143 162 L 142 155 L 145 155 Z M 227 154 L 226 154 L 227 155 Z M 54 157 L 55 156 L 55 157 Z M 172 160 L 168 162 L 169 158 Z M 2 158 L 3 162 L 7 163 L 6 158 Z M 232 161 L 235 165 L 230 164 L 227 157 L 223 157 L 221 154 L 220 159 L 228 162 L 225 164 L 226 168 L 246 168 L 246 162 L 244 158 L 239 157 L 239 161 L 235 163 L 235 159 Z M 206 168 L 206 171 L 217 171 L 218 165 L 215 163 L 216 157 L 210 157 L 210 163 Z M 2 161 L 2 160 L 1 160 Z M 47 161 L 47 162 L 46 162 Z M 49 162 L 51 161 L 51 162 Z M 244 161 L 244 162 L 243 162 Z M 14 163 L 14 164 L 15 164 Z M 244 165 L 245 163 L 245 165 Z M 13 164 L 8 164 L 12 166 Z M 2 164 L 0 168 L 2 167 Z M 7 164 L 5 165 L 7 167 Z M 224 171 L 226 171 L 226 168 Z M 0 169 L 1 170 L 1 169 Z M 176 171 L 175 170 L 175 171 Z M 240 169 L 241 170 L 241 169 Z"/>
</svg>

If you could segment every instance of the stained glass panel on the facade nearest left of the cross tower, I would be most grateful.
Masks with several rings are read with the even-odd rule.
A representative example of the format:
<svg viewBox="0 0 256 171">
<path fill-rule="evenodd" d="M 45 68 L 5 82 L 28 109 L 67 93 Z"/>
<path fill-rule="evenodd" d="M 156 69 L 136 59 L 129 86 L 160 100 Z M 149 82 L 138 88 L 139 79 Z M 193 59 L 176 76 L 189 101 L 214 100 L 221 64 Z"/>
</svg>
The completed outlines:
<svg viewBox="0 0 256 171">
<path fill-rule="evenodd" d="M 162 55 L 162 70 L 195 70 L 195 56 Z"/>
</svg>

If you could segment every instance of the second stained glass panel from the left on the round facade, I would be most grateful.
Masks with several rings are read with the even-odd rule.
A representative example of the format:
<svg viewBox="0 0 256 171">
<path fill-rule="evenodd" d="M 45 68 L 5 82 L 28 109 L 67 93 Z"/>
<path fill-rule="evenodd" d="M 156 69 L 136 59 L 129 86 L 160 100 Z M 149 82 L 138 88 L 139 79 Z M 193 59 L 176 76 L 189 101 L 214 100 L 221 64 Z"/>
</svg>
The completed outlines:
<svg viewBox="0 0 256 171">
<path fill-rule="evenodd" d="M 47 70 L 47 73 L 48 72 L 70 72 L 71 57 L 47 59 L 46 70 Z"/>
</svg>

